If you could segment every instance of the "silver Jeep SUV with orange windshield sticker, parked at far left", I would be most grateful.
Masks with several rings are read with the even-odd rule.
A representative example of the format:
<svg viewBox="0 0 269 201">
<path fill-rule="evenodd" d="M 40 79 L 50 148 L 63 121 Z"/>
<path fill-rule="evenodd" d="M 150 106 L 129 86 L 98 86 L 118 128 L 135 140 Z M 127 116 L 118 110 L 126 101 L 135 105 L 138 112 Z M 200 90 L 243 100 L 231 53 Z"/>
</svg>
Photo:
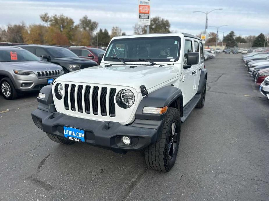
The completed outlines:
<svg viewBox="0 0 269 201">
<path fill-rule="evenodd" d="M 61 66 L 38 58 L 15 47 L 0 47 L 0 86 L 4 98 L 11 100 L 18 93 L 39 91 L 63 74 Z"/>
</svg>

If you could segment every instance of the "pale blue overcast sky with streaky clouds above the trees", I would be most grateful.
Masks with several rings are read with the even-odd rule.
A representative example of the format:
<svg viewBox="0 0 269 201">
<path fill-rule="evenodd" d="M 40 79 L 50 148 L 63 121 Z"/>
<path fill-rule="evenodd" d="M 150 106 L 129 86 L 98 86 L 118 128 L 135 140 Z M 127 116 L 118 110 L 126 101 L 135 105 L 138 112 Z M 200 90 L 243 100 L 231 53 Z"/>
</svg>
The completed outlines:
<svg viewBox="0 0 269 201">
<path fill-rule="evenodd" d="M 49 15 L 64 14 L 75 23 L 88 15 L 99 23 L 98 29 L 106 28 L 111 32 L 113 26 L 118 26 L 127 34 L 133 34 L 133 25 L 138 17 L 138 0 L 0 0 L 0 5 L 0 26 L 21 21 L 27 25 L 42 23 L 39 15 L 48 12 Z M 227 24 L 220 31 L 234 30 L 236 35 L 242 36 L 269 33 L 269 0 L 151 0 L 150 5 L 151 17 L 168 19 L 173 32 L 199 34 L 204 30 L 206 16 L 193 11 L 223 8 L 208 15 L 209 26 Z M 216 32 L 216 28 L 209 27 L 208 31 Z"/>
</svg>

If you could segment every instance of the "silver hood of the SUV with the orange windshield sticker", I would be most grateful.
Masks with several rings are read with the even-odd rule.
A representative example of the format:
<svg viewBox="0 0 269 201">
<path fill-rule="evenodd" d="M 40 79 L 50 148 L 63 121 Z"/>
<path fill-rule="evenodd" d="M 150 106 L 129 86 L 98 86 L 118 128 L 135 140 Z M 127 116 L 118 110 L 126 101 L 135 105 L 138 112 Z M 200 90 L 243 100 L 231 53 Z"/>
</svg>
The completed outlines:
<svg viewBox="0 0 269 201">
<path fill-rule="evenodd" d="M 17 61 L 17 62 L 2 62 L 5 67 L 10 67 L 13 70 L 27 71 L 44 71 L 44 70 L 61 70 L 62 67 L 47 61 Z"/>
</svg>

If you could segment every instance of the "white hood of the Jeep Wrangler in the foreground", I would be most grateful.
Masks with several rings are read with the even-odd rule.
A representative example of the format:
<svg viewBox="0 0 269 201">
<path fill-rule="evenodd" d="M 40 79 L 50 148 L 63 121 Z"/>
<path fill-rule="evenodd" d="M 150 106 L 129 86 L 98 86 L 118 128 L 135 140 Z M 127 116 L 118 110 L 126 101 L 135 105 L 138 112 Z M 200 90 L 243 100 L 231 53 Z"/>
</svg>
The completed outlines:
<svg viewBox="0 0 269 201">
<path fill-rule="evenodd" d="M 153 67 L 146 65 L 113 65 L 110 67 L 94 66 L 64 74 L 56 81 L 96 83 L 105 85 L 129 86 L 140 92 L 140 86 L 147 90 L 179 75 L 173 67 Z"/>
</svg>

